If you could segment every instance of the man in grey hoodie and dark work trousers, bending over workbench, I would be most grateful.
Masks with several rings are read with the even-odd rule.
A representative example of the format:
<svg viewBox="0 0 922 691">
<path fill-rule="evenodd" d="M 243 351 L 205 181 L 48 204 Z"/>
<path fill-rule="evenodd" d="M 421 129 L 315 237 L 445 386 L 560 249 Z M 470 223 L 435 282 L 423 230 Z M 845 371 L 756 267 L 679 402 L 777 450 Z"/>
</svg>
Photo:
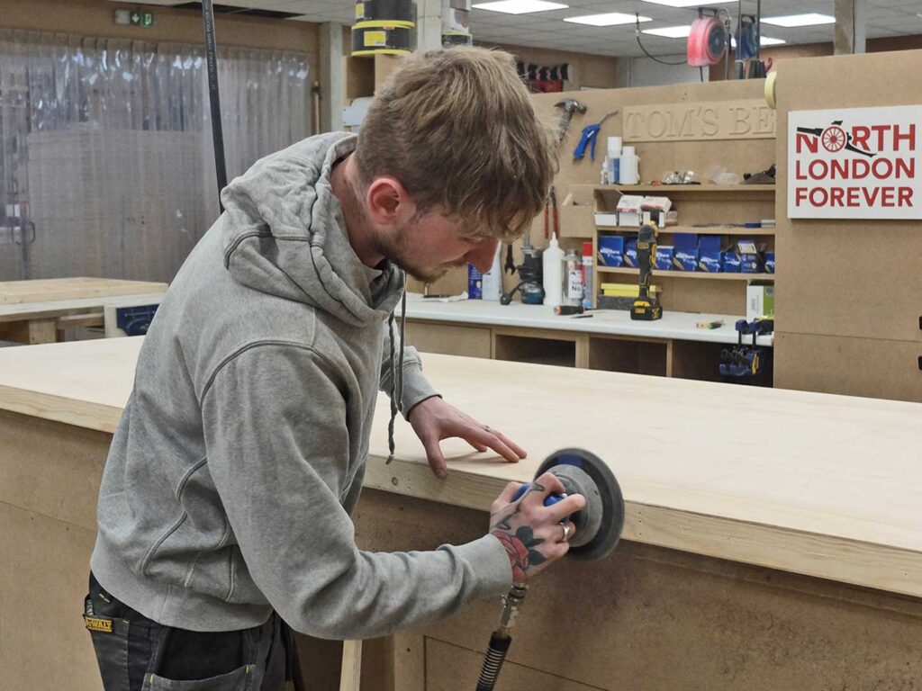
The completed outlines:
<svg viewBox="0 0 922 691">
<path fill-rule="evenodd" d="M 563 492 L 550 474 L 518 501 L 506 487 L 467 545 L 365 552 L 349 519 L 379 388 L 391 452 L 400 412 L 439 477 L 448 437 L 525 457 L 438 396 L 393 313 L 404 271 L 490 266 L 542 207 L 552 151 L 511 56 L 433 51 L 403 61 L 361 135 L 299 142 L 223 191 L 145 338 L 102 478 L 85 617 L 107 691 L 275 691 L 296 676 L 289 627 L 382 636 L 566 553 L 583 499 L 544 507 Z"/>
</svg>

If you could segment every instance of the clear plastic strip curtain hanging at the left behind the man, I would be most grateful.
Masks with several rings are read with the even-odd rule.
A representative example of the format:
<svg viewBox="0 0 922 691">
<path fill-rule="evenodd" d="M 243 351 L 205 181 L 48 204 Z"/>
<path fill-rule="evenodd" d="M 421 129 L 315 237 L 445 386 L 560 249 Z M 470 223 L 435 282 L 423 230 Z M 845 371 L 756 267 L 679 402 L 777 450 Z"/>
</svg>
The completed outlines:
<svg viewBox="0 0 922 691">
<path fill-rule="evenodd" d="M 308 136 L 301 53 L 225 48 L 228 174 Z M 170 280 L 218 215 L 203 50 L 0 30 L 0 280 Z"/>
</svg>

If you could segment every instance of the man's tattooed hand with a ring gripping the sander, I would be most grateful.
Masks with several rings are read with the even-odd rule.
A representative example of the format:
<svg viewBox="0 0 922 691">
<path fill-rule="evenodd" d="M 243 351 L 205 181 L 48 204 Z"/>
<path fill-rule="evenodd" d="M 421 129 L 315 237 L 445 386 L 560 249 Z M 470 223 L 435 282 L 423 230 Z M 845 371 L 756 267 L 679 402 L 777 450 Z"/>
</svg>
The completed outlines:
<svg viewBox="0 0 922 691">
<path fill-rule="evenodd" d="M 561 481 L 552 473 L 538 477 L 528 487 L 522 498 L 513 501 L 521 485 L 511 482 L 493 502 L 490 511 L 490 532 L 506 548 L 513 568 L 513 580 L 518 582 L 543 571 L 548 565 L 565 555 L 570 544 L 563 540 L 573 538 L 575 527 L 567 522 L 564 531 L 561 521 L 585 507 L 582 495 L 562 499 L 550 507 L 544 499 L 550 494 L 566 494 Z"/>
</svg>

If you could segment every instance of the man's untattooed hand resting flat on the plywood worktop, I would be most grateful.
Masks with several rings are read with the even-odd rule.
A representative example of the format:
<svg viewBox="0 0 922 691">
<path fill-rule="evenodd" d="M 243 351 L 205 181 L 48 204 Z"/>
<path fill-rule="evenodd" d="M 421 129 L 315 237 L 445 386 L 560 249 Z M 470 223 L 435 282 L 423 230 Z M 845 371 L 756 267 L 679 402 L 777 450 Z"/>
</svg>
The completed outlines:
<svg viewBox="0 0 922 691">
<path fill-rule="evenodd" d="M 448 466 L 439 446 L 442 439 L 459 437 L 477 451 L 496 451 L 509 463 L 518 463 L 527 455 L 522 447 L 502 432 L 479 423 L 454 405 L 446 404 L 438 396 L 416 404 L 409 412 L 409 424 L 426 449 L 426 459 L 432 473 L 439 478 L 448 474 Z"/>
</svg>

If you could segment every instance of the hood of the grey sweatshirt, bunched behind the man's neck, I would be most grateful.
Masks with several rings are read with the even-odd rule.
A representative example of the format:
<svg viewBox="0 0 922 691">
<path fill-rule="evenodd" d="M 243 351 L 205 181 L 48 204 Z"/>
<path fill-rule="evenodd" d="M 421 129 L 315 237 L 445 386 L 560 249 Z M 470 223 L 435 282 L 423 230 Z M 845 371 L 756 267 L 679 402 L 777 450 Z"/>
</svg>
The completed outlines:
<svg viewBox="0 0 922 691">
<path fill-rule="evenodd" d="M 330 177 L 358 137 L 314 136 L 262 158 L 221 193 L 224 264 L 234 280 L 361 326 L 384 322 L 403 293 L 403 273 L 385 261 L 385 288 L 349 244 Z"/>
</svg>

